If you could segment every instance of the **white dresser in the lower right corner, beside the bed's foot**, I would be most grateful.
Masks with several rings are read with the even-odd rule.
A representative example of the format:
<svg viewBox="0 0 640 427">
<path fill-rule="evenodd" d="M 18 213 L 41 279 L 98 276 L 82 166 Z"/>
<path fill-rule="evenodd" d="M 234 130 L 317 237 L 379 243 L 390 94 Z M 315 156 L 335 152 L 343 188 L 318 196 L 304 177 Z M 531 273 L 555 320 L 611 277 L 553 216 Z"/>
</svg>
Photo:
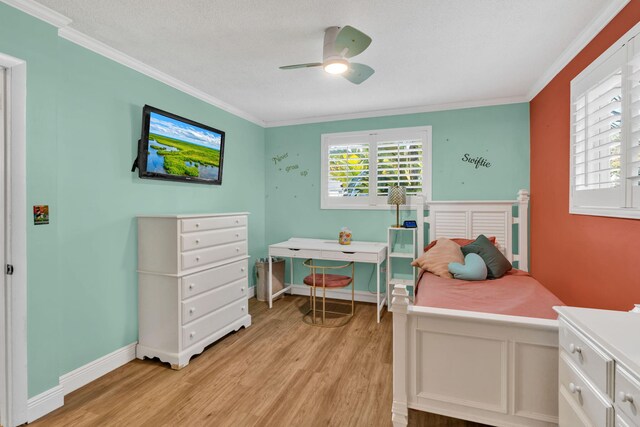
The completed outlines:
<svg viewBox="0 0 640 427">
<path fill-rule="evenodd" d="M 560 426 L 640 427 L 640 314 L 555 309 Z"/>
</svg>

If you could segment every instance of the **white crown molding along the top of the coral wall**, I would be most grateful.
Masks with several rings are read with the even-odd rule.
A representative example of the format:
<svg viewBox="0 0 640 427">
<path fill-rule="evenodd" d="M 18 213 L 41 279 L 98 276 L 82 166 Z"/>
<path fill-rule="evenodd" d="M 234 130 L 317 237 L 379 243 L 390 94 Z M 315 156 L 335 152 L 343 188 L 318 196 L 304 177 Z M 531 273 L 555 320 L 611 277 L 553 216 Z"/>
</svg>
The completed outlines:
<svg viewBox="0 0 640 427">
<path fill-rule="evenodd" d="M 529 100 L 544 89 L 560 71 L 566 67 L 593 40 L 604 27 L 624 8 L 630 0 L 610 0 L 609 4 L 578 34 L 578 37 L 555 60 L 551 67 L 529 90 Z"/>
</svg>

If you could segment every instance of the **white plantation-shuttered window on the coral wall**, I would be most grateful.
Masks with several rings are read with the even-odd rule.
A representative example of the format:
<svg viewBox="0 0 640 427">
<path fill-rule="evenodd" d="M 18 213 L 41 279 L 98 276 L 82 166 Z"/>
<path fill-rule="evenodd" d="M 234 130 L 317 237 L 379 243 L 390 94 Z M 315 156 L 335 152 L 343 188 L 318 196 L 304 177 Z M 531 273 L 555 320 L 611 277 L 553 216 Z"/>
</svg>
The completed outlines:
<svg viewBox="0 0 640 427">
<path fill-rule="evenodd" d="M 571 213 L 640 218 L 638 32 L 571 82 Z"/>
</svg>

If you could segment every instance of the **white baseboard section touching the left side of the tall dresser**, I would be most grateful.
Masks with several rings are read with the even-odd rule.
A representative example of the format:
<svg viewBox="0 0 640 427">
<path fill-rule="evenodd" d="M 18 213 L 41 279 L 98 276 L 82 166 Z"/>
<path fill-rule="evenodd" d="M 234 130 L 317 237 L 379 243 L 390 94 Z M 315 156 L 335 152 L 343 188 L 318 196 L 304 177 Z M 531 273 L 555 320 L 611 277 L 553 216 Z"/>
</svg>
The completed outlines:
<svg viewBox="0 0 640 427">
<path fill-rule="evenodd" d="M 137 342 L 126 345 L 60 377 L 65 396 L 136 358 Z"/>
</svg>

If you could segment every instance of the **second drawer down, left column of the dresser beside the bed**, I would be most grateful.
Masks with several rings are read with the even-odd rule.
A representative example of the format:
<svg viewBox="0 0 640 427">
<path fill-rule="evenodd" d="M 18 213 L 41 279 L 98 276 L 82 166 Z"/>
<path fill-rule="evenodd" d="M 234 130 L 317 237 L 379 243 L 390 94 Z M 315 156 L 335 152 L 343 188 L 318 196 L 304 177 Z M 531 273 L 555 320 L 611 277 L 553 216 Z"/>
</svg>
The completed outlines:
<svg viewBox="0 0 640 427">
<path fill-rule="evenodd" d="M 613 426 L 613 406 L 607 401 L 604 394 L 579 373 L 579 368 L 571 362 L 571 358 L 565 352 L 560 353 L 559 380 L 561 391 L 570 396 L 578 407 L 589 417 L 594 426 Z"/>
</svg>

